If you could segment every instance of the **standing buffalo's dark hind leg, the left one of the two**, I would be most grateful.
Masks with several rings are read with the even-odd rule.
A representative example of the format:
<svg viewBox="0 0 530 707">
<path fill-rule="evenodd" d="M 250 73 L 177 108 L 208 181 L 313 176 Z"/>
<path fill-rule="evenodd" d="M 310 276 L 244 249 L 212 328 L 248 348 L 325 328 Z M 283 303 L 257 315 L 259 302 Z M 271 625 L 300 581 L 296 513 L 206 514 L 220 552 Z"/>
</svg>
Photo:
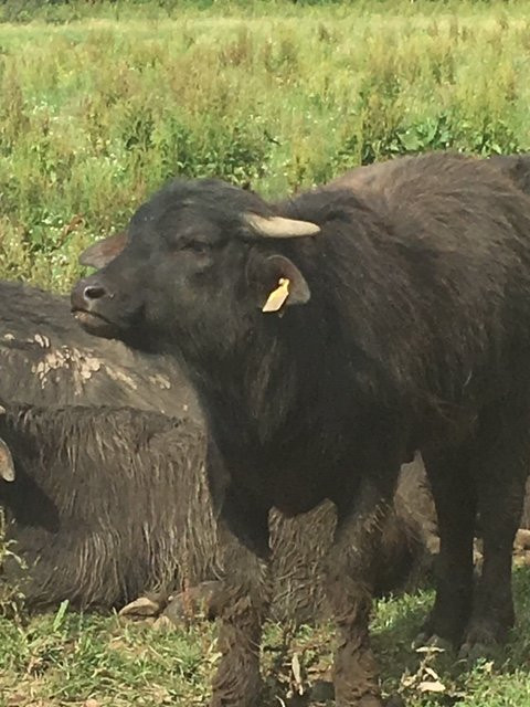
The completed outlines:
<svg viewBox="0 0 530 707">
<path fill-rule="evenodd" d="M 438 519 L 436 599 L 416 644 L 458 646 L 473 605 L 476 489 L 467 451 L 424 452 Z"/>
</svg>

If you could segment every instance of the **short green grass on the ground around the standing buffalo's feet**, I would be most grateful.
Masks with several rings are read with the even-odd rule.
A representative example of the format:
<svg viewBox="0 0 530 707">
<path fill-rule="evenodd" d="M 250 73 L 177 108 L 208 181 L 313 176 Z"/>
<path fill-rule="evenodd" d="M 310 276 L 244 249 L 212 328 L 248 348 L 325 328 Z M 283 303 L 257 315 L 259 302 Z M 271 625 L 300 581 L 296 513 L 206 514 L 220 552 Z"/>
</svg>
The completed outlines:
<svg viewBox="0 0 530 707">
<path fill-rule="evenodd" d="M 410 646 L 431 604 L 421 592 L 380 602 L 373 643 L 385 693 L 400 692 L 409 707 L 524 707 L 530 704 L 530 571 L 516 571 L 519 619 L 510 643 L 496 662 L 474 667 L 452 654 L 425 656 Z M 285 630 L 267 627 L 264 673 L 269 700 L 264 707 L 301 705 L 286 699 L 294 685 L 293 658 L 305 690 L 329 679 L 330 627 L 303 627 L 285 645 Z M 108 707 L 203 705 L 218 661 L 214 626 L 155 631 L 144 624 L 103 615 L 80 615 L 62 606 L 30 622 L 0 619 L 0 706 L 105 705 Z M 422 680 L 442 693 L 423 692 Z M 3 701 L 2 701 L 3 699 Z M 332 704 L 331 701 L 329 703 Z"/>
</svg>

